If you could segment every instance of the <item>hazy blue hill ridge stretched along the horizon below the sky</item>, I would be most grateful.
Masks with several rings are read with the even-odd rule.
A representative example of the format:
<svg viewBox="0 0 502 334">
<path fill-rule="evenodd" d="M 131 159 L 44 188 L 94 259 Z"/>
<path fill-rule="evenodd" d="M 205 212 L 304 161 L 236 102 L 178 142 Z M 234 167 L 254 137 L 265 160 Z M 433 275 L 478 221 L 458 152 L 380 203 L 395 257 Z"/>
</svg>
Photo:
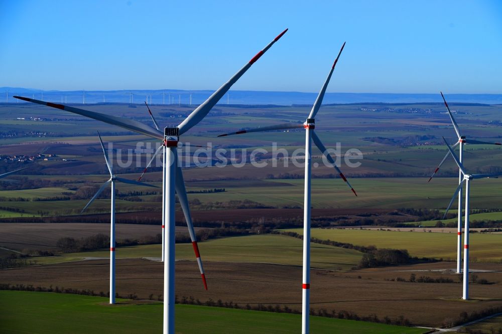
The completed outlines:
<svg viewBox="0 0 502 334">
<path fill-rule="evenodd" d="M 211 90 L 179 90 L 179 89 L 132 89 L 132 90 L 92 90 L 85 91 L 85 103 L 143 103 L 148 96 L 152 104 L 182 104 L 198 105 L 209 97 Z M 0 103 L 16 103 L 13 95 L 22 95 L 50 102 L 83 103 L 84 91 L 42 91 L 40 89 L 0 87 Z M 230 91 L 219 101 L 219 104 L 231 105 L 312 105 L 317 92 L 276 92 L 276 91 Z M 502 94 L 447 94 L 449 103 L 469 104 L 502 104 Z M 169 103 L 170 102 L 170 103 Z M 413 93 L 326 93 L 324 104 L 350 104 L 350 103 L 442 103 L 441 95 L 413 94 Z"/>
</svg>

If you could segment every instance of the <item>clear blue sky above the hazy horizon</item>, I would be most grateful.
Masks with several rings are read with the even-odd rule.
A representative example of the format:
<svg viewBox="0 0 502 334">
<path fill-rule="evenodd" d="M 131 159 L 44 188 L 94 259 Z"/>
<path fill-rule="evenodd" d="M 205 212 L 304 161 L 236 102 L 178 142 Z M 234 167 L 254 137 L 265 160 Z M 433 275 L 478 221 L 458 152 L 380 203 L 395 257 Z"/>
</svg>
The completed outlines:
<svg viewBox="0 0 502 334">
<path fill-rule="evenodd" d="M 0 0 L 0 87 L 502 93 L 500 1 Z"/>
</svg>

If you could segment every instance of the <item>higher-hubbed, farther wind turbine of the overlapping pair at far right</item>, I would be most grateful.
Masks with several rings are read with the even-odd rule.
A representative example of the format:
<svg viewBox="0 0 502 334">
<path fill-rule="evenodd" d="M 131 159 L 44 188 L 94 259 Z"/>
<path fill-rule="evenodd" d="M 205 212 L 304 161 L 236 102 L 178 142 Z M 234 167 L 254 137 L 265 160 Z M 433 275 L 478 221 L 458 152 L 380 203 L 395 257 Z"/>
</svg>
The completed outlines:
<svg viewBox="0 0 502 334">
<path fill-rule="evenodd" d="M 450 107 L 448 106 L 448 103 L 446 103 L 446 99 L 444 98 L 443 92 L 440 92 L 441 96 L 443 97 L 444 105 L 446 106 L 446 110 L 448 111 L 448 115 L 450 116 L 451 123 L 453 124 L 453 128 L 455 129 L 455 133 L 457 134 L 458 141 L 452 146 L 455 147 L 458 145 L 459 149 L 459 161 L 462 163 L 463 158 L 462 158 L 462 152 L 463 152 L 463 146 L 467 144 L 489 144 L 489 145 L 500 145 L 498 142 L 488 142 L 488 141 L 480 141 L 480 140 L 473 140 L 473 139 L 466 139 L 465 135 L 460 134 L 460 129 L 458 127 L 457 122 L 453 118 L 453 114 L 450 111 Z M 443 162 L 446 160 L 448 155 L 450 154 L 450 151 L 446 153 L 444 158 L 441 160 L 439 163 L 439 166 L 436 168 L 432 176 L 429 178 L 428 182 L 431 182 L 432 178 L 436 175 L 436 173 L 439 171 L 439 168 L 443 164 Z M 459 184 L 459 191 L 458 191 L 458 219 L 457 219 L 457 273 L 461 273 L 461 266 L 462 266 L 462 180 L 463 180 L 463 174 L 462 171 L 459 169 L 458 170 L 458 184 Z M 446 217 L 446 213 L 443 216 L 443 220 Z"/>
</svg>

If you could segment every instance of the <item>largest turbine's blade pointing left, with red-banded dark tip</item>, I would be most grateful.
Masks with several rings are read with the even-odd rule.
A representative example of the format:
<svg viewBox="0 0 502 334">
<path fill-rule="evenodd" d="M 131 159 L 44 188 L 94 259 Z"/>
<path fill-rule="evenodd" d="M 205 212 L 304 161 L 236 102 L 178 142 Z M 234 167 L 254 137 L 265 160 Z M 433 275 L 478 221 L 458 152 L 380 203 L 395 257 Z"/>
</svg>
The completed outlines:
<svg viewBox="0 0 502 334">
<path fill-rule="evenodd" d="M 22 97 L 22 96 L 14 96 L 14 97 L 17 99 L 20 99 L 20 100 L 38 103 L 38 104 L 46 105 L 46 106 L 53 107 L 56 109 L 61 109 L 61 110 L 73 112 L 75 114 L 89 117 L 89 118 L 92 118 L 95 120 L 99 120 L 99 121 L 102 121 L 102 122 L 105 122 L 108 124 L 116 125 L 116 126 L 122 127 L 124 129 L 128 129 L 133 132 L 141 133 L 141 134 L 147 135 L 152 138 L 164 140 L 164 133 L 162 131 L 154 129 L 151 126 L 148 126 L 148 125 L 143 124 L 141 122 L 135 121 L 133 119 L 126 119 L 126 118 L 117 117 L 117 116 L 105 115 L 105 114 L 102 114 L 99 112 L 84 110 L 84 109 L 80 109 L 80 108 L 74 108 L 74 107 L 70 107 L 70 106 L 67 106 L 64 104 L 56 104 L 56 103 L 51 103 L 51 102 L 30 99 L 30 98 Z"/>
</svg>

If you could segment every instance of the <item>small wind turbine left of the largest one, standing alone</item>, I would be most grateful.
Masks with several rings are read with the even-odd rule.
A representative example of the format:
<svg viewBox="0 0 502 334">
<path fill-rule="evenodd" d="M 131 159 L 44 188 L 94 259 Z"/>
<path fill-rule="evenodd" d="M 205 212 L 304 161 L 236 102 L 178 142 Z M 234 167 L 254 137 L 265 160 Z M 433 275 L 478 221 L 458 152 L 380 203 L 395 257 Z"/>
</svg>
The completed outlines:
<svg viewBox="0 0 502 334">
<path fill-rule="evenodd" d="M 106 150 L 104 149 L 104 144 L 103 140 L 101 139 L 101 135 L 99 134 L 99 131 L 97 133 L 99 136 L 99 142 L 101 143 L 101 148 L 103 149 L 103 154 L 104 154 L 104 160 L 106 161 L 106 166 L 108 167 L 108 172 L 110 173 L 110 179 L 103 183 L 103 185 L 98 189 L 96 194 L 90 199 L 90 201 L 87 203 L 87 205 L 82 209 L 83 213 L 85 209 L 91 203 L 103 192 L 103 190 L 108 186 L 111 185 L 111 210 L 110 210 L 110 216 L 111 216 L 111 222 L 110 222 L 110 304 L 115 303 L 115 181 L 119 181 L 122 183 L 127 183 L 130 185 L 137 185 L 137 186 L 145 186 L 145 187 L 154 187 L 154 188 L 159 188 L 157 186 L 152 186 L 143 182 L 138 182 L 138 181 L 132 181 L 128 179 L 122 179 L 118 178 L 115 175 L 113 175 L 112 172 L 112 166 L 111 163 L 108 159 L 108 155 L 106 154 Z"/>
</svg>

